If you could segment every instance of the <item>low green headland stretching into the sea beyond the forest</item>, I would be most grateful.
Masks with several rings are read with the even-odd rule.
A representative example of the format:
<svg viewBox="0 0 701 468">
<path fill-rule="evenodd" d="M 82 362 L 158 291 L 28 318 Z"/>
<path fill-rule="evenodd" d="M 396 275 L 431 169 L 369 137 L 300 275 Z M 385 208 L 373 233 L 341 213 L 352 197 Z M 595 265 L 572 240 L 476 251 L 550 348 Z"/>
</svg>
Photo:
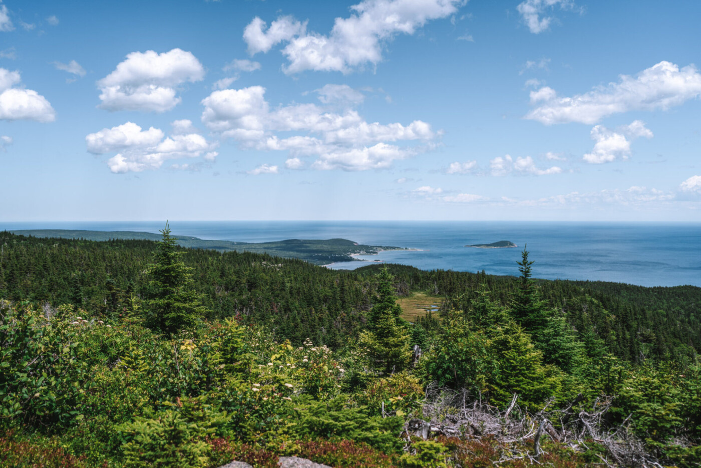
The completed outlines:
<svg viewBox="0 0 701 468">
<path fill-rule="evenodd" d="M 110 239 L 137 239 L 158 241 L 161 234 L 132 231 L 84 231 L 80 229 L 25 229 L 11 231 L 20 236 L 58 237 L 61 239 L 85 239 L 86 241 L 109 241 Z M 365 246 L 348 239 L 287 239 L 276 242 L 236 242 L 207 241 L 193 236 L 173 236 L 180 246 L 204 248 L 229 252 L 267 253 L 277 257 L 299 258 L 314 265 L 327 265 L 333 262 L 352 262 L 351 255 L 376 254 L 382 250 L 404 250 L 402 247 Z"/>
</svg>

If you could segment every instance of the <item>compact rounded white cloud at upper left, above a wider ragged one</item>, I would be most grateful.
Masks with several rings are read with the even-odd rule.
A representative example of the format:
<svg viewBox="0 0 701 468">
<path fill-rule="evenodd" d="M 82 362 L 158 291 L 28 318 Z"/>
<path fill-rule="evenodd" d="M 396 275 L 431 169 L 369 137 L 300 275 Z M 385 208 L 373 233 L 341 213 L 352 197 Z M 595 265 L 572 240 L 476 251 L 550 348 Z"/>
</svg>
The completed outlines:
<svg viewBox="0 0 701 468">
<path fill-rule="evenodd" d="M 180 98 L 177 87 L 205 76 L 205 69 L 190 52 L 179 48 L 164 53 L 132 52 L 109 75 L 97 82 L 102 109 L 165 112 Z"/>
</svg>

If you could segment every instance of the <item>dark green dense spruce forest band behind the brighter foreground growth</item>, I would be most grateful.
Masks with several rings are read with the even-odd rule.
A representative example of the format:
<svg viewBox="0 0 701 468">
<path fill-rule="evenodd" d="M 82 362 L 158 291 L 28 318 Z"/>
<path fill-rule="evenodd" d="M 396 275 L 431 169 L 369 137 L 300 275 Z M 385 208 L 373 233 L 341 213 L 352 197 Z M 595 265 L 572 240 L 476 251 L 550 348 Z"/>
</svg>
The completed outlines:
<svg viewBox="0 0 701 468">
<path fill-rule="evenodd" d="M 130 297 L 147 293 L 146 266 L 154 241 L 43 239 L 0 233 L 0 297 L 73 304 L 112 319 Z M 355 271 L 330 270 L 303 260 L 254 253 L 186 249 L 194 288 L 203 293 L 207 319 L 239 314 L 250 323 L 272 323 L 295 345 L 311 338 L 339 347 L 363 326 L 372 305 L 380 265 Z M 390 265 L 400 295 L 430 290 L 451 307 L 465 309 L 486 285 L 508 305 L 517 281 L 509 276 L 450 270 L 421 271 Z M 515 270 L 515 273 L 516 270 Z M 601 337 L 627 361 L 674 359 L 701 349 L 701 288 L 646 288 L 623 283 L 538 280 L 547 305 L 562 309 L 584 334 Z"/>
</svg>

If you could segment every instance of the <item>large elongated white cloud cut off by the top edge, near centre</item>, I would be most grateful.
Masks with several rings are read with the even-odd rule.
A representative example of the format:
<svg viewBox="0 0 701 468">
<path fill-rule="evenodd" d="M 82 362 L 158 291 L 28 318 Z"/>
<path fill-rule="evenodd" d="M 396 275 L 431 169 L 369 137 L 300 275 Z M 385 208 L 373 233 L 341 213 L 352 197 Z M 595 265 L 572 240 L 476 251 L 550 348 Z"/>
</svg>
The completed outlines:
<svg viewBox="0 0 701 468">
<path fill-rule="evenodd" d="M 278 18 L 266 30 L 266 22 L 254 18 L 243 39 L 252 54 L 267 52 L 286 42 L 283 55 L 287 74 L 304 70 L 348 73 L 366 63 L 382 60 L 383 45 L 396 34 L 414 34 L 430 20 L 448 18 L 464 0 L 365 0 L 351 6 L 349 18 L 336 18 L 328 35 L 308 33 L 306 22 Z"/>
</svg>

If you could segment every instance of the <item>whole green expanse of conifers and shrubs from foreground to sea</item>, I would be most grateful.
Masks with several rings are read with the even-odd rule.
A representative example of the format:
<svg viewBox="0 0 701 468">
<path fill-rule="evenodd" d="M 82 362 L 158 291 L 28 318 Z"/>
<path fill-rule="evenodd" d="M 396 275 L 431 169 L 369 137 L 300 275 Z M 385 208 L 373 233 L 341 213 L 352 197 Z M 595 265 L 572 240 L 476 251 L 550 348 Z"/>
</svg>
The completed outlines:
<svg viewBox="0 0 701 468">
<path fill-rule="evenodd" d="M 701 288 L 534 276 L 1 232 L 0 466 L 700 466 Z"/>
</svg>

